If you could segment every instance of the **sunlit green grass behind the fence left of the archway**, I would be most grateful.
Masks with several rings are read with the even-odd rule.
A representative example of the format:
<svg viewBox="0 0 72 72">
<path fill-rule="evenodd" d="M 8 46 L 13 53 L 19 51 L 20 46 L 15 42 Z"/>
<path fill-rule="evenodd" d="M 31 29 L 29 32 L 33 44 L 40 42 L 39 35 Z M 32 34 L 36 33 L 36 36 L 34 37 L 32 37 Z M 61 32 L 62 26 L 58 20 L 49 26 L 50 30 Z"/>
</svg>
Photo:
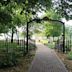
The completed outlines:
<svg viewBox="0 0 72 72">
<path fill-rule="evenodd" d="M 25 45 L 26 46 L 26 45 Z M 24 45 L 18 45 L 16 42 L 5 42 L 0 41 L 0 53 L 12 53 L 15 52 L 16 54 L 22 53 L 22 51 L 25 51 Z"/>
</svg>

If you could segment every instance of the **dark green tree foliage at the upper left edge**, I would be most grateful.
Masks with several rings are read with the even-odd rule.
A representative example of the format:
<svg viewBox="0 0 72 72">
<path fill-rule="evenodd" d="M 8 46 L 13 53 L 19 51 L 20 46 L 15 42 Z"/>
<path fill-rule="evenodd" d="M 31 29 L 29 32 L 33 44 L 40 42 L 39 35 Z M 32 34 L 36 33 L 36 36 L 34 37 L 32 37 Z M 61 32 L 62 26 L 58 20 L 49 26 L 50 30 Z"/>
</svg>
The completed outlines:
<svg viewBox="0 0 72 72">
<path fill-rule="evenodd" d="M 0 10 L 0 33 L 7 33 L 9 30 L 9 23 L 11 22 L 12 17 L 9 12 L 5 11 L 5 9 Z"/>
</svg>

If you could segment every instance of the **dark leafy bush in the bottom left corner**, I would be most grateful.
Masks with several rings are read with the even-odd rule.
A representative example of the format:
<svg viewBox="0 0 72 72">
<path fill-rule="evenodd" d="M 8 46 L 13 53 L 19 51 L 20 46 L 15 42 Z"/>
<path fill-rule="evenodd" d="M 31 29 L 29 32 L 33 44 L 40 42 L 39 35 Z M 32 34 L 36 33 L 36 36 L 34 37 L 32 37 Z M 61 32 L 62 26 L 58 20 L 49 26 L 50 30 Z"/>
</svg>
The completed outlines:
<svg viewBox="0 0 72 72">
<path fill-rule="evenodd" d="M 18 60 L 14 52 L 6 54 L 0 58 L 0 68 L 17 65 L 17 62 Z"/>
</svg>

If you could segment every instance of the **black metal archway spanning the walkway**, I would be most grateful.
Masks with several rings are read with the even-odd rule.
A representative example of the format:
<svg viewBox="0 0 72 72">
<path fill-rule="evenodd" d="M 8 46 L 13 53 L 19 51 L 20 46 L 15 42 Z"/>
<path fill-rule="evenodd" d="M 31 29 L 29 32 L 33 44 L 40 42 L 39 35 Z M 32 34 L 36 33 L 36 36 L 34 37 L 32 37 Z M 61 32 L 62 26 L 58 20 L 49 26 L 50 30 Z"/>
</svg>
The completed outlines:
<svg viewBox="0 0 72 72">
<path fill-rule="evenodd" d="M 65 24 L 64 24 L 64 22 L 62 22 L 62 21 L 59 21 L 59 20 L 53 20 L 53 19 L 49 19 L 48 17 L 43 17 L 42 19 L 40 19 L 40 18 L 35 18 L 35 19 L 32 19 L 32 20 L 30 20 L 29 22 L 27 22 L 27 51 L 28 51 L 28 24 L 29 23 L 31 23 L 31 22 L 33 22 L 33 21 L 35 21 L 35 22 L 37 22 L 37 23 L 40 23 L 41 21 L 53 21 L 53 22 L 59 22 L 59 23 L 61 23 L 62 25 L 63 25 L 63 53 L 65 53 Z"/>
</svg>

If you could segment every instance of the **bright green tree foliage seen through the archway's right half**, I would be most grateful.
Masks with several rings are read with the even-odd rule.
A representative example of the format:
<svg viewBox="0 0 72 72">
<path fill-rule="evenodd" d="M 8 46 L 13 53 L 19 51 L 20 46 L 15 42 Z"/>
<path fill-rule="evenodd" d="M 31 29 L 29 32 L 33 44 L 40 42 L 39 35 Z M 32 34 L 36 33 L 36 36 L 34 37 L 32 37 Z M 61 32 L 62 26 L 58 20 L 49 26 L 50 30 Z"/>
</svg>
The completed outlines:
<svg viewBox="0 0 72 72">
<path fill-rule="evenodd" d="M 46 22 L 45 23 L 45 36 L 49 37 L 57 37 L 60 36 L 62 33 L 62 25 L 59 23 L 50 23 Z"/>
</svg>

